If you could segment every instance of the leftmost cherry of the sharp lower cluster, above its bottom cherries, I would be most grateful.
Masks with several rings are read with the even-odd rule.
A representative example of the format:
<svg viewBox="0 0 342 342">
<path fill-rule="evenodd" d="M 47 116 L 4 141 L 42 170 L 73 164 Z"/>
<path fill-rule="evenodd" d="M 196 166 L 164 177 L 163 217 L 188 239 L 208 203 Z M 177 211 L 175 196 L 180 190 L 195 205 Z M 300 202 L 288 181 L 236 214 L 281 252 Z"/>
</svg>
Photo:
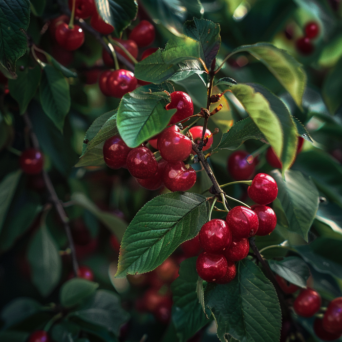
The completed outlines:
<svg viewBox="0 0 342 342">
<path fill-rule="evenodd" d="M 202 226 L 199 242 L 205 252 L 222 254 L 232 242 L 232 232 L 226 221 L 214 218 Z"/>
</svg>

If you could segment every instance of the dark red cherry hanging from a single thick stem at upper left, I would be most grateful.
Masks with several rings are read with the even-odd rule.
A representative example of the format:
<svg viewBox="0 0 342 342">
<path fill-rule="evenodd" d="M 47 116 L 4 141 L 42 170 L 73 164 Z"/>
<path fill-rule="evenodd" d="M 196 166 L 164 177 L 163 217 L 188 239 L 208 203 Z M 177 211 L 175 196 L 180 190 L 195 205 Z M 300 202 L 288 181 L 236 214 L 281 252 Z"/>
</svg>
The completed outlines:
<svg viewBox="0 0 342 342">
<path fill-rule="evenodd" d="M 65 50 L 73 51 L 85 42 L 85 33 L 79 25 L 69 28 L 66 22 L 62 22 L 56 28 L 56 41 Z"/>
</svg>

